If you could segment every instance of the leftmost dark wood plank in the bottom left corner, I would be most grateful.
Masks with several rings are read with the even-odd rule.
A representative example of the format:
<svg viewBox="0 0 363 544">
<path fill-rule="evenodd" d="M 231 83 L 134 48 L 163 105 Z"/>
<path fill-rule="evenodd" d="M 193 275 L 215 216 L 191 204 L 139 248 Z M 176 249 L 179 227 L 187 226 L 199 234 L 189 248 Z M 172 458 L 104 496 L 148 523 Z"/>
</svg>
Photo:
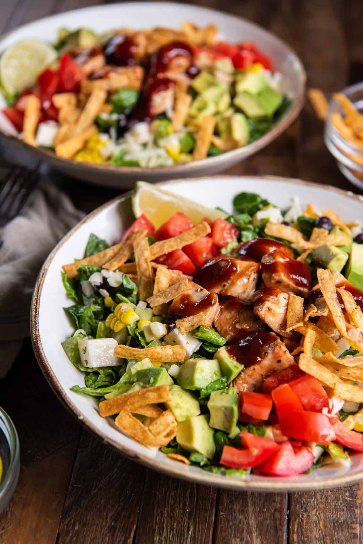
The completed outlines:
<svg viewBox="0 0 363 544">
<path fill-rule="evenodd" d="M 22 467 L 14 496 L 0 516 L 1 544 L 56 542 L 77 446 L 78 441 L 72 441 L 40 462 Z"/>
</svg>

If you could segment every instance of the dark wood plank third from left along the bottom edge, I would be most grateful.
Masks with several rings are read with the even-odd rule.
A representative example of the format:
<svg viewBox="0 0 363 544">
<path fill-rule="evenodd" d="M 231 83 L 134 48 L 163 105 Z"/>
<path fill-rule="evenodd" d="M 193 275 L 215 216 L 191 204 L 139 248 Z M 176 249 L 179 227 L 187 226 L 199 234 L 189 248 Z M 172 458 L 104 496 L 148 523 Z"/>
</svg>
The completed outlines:
<svg viewBox="0 0 363 544">
<path fill-rule="evenodd" d="M 212 542 L 216 489 L 147 471 L 135 544 Z"/>
</svg>

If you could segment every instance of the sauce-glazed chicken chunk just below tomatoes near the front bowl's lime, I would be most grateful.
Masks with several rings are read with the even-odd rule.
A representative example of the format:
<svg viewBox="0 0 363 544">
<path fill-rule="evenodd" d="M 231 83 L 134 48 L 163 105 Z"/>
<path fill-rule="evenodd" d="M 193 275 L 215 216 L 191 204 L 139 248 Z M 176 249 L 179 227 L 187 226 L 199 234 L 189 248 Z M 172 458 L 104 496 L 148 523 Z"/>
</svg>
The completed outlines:
<svg viewBox="0 0 363 544">
<path fill-rule="evenodd" d="M 236 296 L 245 304 L 253 300 L 259 278 L 260 264 L 248 257 L 215 257 L 207 261 L 195 280 L 213 293 Z"/>
</svg>

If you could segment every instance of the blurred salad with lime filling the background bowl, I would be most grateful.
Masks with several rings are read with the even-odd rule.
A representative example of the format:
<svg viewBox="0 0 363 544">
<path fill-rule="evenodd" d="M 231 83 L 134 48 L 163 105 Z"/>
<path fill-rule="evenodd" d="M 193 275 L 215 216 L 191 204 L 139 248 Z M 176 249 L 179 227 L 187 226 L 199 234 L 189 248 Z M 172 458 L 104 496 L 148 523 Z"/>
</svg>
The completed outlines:
<svg viewBox="0 0 363 544">
<path fill-rule="evenodd" d="M 189 21 L 23 39 L 3 51 L 0 82 L 3 132 L 60 158 L 142 168 L 246 146 L 293 100 L 258 43 Z"/>
</svg>

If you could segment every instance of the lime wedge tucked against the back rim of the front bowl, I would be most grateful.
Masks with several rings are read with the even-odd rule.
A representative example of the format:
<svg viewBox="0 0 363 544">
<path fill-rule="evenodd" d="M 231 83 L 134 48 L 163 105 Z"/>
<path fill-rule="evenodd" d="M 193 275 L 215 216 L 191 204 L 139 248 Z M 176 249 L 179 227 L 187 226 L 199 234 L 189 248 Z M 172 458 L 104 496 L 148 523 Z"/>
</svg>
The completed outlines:
<svg viewBox="0 0 363 544">
<path fill-rule="evenodd" d="M 217 209 L 207 208 L 198 204 L 198 202 L 169 193 L 169 191 L 159 189 L 145 181 L 136 183 L 132 195 L 132 211 L 135 217 L 140 217 L 142 214 L 146 215 L 155 228 L 162 225 L 176 212 L 186 214 L 194 225 L 205 217 L 210 218 L 212 221 L 218 217 L 226 217 L 223 212 L 219 212 Z"/>
</svg>

